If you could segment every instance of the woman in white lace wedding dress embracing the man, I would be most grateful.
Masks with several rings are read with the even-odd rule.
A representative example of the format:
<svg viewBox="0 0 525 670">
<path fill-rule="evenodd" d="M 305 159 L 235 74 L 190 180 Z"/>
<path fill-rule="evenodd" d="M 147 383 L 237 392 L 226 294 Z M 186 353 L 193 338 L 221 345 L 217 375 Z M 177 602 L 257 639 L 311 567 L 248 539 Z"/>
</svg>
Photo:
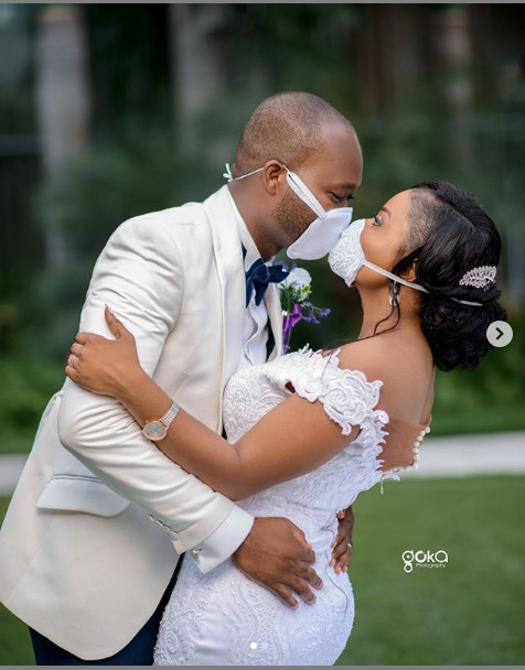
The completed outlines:
<svg viewBox="0 0 525 670">
<path fill-rule="evenodd" d="M 224 393 L 228 441 L 143 372 L 132 335 L 108 310 L 116 341 L 77 335 L 67 376 L 119 399 L 167 456 L 254 515 L 297 523 L 324 582 L 313 606 L 297 603 L 292 612 L 231 561 L 204 575 L 185 561 L 156 664 L 334 663 L 354 619 L 349 576 L 330 564 L 336 511 L 416 465 L 436 367 L 474 368 L 491 348 L 486 327 L 506 318 L 495 284 L 500 253 L 494 223 L 447 183 L 404 191 L 352 224 L 329 262 L 360 292 L 358 338 L 234 375 Z M 168 430 L 150 421 L 164 413 Z"/>
</svg>

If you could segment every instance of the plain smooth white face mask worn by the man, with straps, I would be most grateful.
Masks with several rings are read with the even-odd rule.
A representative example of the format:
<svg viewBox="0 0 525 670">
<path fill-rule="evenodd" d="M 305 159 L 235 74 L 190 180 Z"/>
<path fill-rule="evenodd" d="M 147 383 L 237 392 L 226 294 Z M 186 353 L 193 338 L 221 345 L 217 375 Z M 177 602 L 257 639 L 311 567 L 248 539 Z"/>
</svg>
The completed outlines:
<svg viewBox="0 0 525 670">
<path fill-rule="evenodd" d="M 317 260 L 323 258 L 332 249 L 338 241 L 341 233 L 349 227 L 352 220 L 352 207 L 336 207 L 328 212 L 313 195 L 310 188 L 304 184 L 299 175 L 290 172 L 286 165 L 282 165 L 287 171 L 287 182 L 290 188 L 298 195 L 301 201 L 317 214 L 315 220 L 304 230 L 304 233 L 287 249 L 289 258 L 300 258 L 302 260 Z M 229 171 L 229 165 L 226 163 L 225 176 L 228 182 L 243 180 L 250 174 L 260 172 L 264 168 L 243 174 L 242 176 L 233 177 Z"/>
</svg>

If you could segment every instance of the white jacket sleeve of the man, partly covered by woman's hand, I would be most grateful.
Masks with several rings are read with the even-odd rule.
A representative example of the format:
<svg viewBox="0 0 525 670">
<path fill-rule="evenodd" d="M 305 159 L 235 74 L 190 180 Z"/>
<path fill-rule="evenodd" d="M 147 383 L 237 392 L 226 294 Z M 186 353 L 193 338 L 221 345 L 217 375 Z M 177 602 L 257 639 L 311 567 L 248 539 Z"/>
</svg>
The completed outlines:
<svg viewBox="0 0 525 670">
<path fill-rule="evenodd" d="M 176 323 L 183 279 L 174 233 L 148 215 L 130 219 L 115 231 L 95 266 L 79 329 L 113 337 L 104 317 L 107 303 L 135 335 L 140 363 L 151 375 Z M 229 526 L 231 552 L 223 545 L 206 572 L 249 532 L 253 517 L 165 457 L 117 400 L 67 380 L 58 433 L 105 484 L 157 518 L 179 553 Z"/>
</svg>

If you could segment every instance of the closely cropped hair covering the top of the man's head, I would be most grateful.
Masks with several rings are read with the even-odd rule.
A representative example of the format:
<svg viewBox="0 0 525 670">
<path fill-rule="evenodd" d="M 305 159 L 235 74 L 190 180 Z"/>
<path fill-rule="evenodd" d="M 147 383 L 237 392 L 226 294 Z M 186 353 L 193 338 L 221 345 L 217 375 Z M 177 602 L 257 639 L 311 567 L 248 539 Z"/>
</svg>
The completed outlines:
<svg viewBox="0 0 525 670">
<path fill-rule="evenodd" d="M 239 176 L 271 160 L 297 170 L 322 151 L 330 128 L 355 133 L 341 112 L 312 94 L 293 91 L 266 98 L 243 129 L 233 175 Z"/>
</svg>

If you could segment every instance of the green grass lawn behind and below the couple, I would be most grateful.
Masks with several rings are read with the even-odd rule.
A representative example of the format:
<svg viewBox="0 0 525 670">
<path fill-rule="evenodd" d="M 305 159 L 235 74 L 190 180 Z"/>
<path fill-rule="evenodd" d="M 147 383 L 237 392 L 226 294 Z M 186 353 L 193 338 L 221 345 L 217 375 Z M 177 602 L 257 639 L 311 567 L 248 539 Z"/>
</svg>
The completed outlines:
<svg viewBox="0 0 525 670">
<path fill-rule="evenodd" d="M 3 517 L 7 500 L 0 500 Z M 338 664 L 525 661 L 525 477 L 386 482 L 362 494 L 350 574 L 355 620 Z M 443 549 L 403 571 L 406 549 Z M 0 664 L 33 662 L 25 626 L 0 608 Z"/>
</svg>

